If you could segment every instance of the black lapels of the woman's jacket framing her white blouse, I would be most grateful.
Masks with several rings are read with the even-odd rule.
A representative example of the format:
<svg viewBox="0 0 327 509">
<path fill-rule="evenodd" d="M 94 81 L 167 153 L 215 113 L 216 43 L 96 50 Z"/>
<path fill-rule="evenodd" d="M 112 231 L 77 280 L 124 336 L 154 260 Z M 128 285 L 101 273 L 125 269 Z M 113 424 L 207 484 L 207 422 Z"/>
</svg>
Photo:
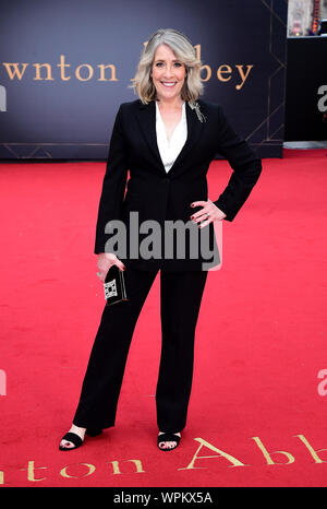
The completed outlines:
<svg viewBox="0 0 327 509">
<path fill-rule="evenodd" d="M 147 105 L 144 105 L 140 100 L 140 108 L 137 110 L 137 120 L 142 132 L 146 139 L 146 142 L 152 151 L 153 155 L 156 158 L 158 169 L 164 175 L 167 175 L 165 166 L 161 161 L 157 144 L 157 133 L 156 133 L 156 103 L 152 100 Z M 191 149 L 197 143 L 202 132 L 203 132 L 203 122 L 197 118 L 195 110 L 193 110 L 190 105 L 186 103 L 186 122 L 187 122 L 187 139 L 184 146 L 179 153 L 175 162 L 169 170 L 169 175 L 175 173 L 177 168 L 181 165 L 183 159 L 190 153 Z"/>
</svg>

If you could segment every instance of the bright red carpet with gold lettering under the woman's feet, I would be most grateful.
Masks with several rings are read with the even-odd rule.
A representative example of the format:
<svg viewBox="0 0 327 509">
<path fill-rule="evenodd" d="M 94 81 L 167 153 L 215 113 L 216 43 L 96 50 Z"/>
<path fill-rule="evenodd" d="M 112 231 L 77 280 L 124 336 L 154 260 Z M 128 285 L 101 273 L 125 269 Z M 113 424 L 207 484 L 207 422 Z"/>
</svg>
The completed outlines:
<svg viewBox="0 0 327 509">
<path fill-rule="evenodd" d="M 263 161 L 251 198 L 223 223 L 187 427 L 167 453 L 156 446 L 158 277 L 136 325 L 117 426 L 58 450 L 104 306 L 93 247 L 105 163 L 0 166 L 0 485 L 327 486 L 318 378 L 327 369 L 327 154 L 284 155 Z M 229 175 L 227 162 L 211 164 L 209 198 Z"/>
</svg>

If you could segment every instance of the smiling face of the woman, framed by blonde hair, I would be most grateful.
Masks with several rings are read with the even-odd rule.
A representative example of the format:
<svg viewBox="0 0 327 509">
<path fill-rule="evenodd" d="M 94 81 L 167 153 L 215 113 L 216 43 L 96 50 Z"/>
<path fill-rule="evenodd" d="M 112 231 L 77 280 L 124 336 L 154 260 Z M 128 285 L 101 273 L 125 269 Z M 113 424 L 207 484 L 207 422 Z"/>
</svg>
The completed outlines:
<svg viewBox="0 0 327 509">
<path fill-rule="evenodd" d="M 185 66 L 178 60 L 166 44 L 158 46 L 152 71 L 158 99 L 172 100 L 181 96 L 185 80 Z"/>
</svg>

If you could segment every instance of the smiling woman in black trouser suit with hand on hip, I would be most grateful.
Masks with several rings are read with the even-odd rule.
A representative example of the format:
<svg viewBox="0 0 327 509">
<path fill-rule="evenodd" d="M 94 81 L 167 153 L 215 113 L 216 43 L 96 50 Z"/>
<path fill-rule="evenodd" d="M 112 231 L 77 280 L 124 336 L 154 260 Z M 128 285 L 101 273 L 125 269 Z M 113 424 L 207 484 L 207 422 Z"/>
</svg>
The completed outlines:
<svg viewBox="0 0 327 509">
<path fill-rule="evenodd" d="M 109 268 L 118 265 L 124 271 L 129 300 L 104 309 L 73 425 L 60 442 L 61 450 L 75 449 L 85 434 L 95 436 L 114 425 L 133 331 L 158 271 L 162 346 L 157 442 L 165 451 L 178 447 L 186 424 L 194 334 L 207 270 L 219 261 L 214 221 L 234 218 L 262 170 L 261 161 L 229 126 L 221 107 L 197 100 L 203 92 L 201 61 L 180 32 L 159 29 L 150 37 L 132 86 L 140 99 L 122 104 L 117 114 L 95 244 L 98 276 L 104 282 Z M 213 202 L 206 173 L 217 153 L 234 171 Z M 133 214 L 141 225 L 136 233 Z M 128 239 L 116 252 L 108 227 L 114 221 L 124 226 Z M 145 236 L 149 222 L 159 228 L 152 242 Z M 172 224 L 184 230 L 169 236 Z"/>
</svg>

